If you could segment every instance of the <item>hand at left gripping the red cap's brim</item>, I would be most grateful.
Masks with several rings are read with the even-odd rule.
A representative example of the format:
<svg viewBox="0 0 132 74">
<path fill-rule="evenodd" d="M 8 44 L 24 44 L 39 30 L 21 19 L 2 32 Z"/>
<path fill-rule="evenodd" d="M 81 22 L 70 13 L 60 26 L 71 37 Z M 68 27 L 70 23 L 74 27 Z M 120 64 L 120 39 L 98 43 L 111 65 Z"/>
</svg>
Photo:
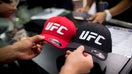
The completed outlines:
<svg viewBox="0 0 132 74">
<path fill-rule="evenodd" d="M 42 45 L 46 43 L 43 39 L 44 37 L 36 35 L 14 43 L 12 47 L 17 59 L 29 60 L 37 56 L 42 50 Z"/>
</svg>

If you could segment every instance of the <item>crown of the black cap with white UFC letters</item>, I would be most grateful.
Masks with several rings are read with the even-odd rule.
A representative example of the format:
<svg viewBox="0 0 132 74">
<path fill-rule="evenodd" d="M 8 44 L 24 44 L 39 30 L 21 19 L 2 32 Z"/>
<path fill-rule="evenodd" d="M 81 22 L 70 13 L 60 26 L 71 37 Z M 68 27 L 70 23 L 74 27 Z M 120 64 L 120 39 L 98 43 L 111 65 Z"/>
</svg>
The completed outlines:
<svg viewBox="0 0 132 74">
<path fill-rule="evenodd" d="M 82 23 L 78 26 L 74 41 L 104 52 L 112 51 L 110 31 L 102 24 Z"/>
</svg>

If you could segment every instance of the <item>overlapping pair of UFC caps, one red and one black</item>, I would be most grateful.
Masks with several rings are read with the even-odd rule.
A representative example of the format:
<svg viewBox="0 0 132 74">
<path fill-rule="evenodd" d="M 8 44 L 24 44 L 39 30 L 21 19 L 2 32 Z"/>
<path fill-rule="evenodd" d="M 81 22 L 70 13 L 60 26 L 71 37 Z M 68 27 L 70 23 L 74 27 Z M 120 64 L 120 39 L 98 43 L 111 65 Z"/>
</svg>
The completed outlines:
<svg viewBox="0 0 132 74">
<path fill-rule="evenodd" d="M 68 18 L 56 16 L 45 22 L 41 35 L 60 49 L 84 45 L 86 52 L 101 60 L 112 50 L 110 31 L 102 24 L 84 22 L 76 27 Z"/>
</svg>

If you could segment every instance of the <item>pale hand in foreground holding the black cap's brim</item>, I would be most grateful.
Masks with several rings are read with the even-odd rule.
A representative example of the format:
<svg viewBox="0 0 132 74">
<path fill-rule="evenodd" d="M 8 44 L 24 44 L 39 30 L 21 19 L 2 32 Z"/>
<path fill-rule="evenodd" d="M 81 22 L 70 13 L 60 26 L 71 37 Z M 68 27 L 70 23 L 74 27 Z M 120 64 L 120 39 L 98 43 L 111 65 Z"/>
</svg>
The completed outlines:
<svg viewBox="0 0 132 74">
<path fill-rule="evenodd" d="M 66 52 L 66 61 L 60 74 L 85 74 L 93 68 L 92 56 L 84 53 L 84 47 L 80 46 L 73 52 Z"/>
</svg>

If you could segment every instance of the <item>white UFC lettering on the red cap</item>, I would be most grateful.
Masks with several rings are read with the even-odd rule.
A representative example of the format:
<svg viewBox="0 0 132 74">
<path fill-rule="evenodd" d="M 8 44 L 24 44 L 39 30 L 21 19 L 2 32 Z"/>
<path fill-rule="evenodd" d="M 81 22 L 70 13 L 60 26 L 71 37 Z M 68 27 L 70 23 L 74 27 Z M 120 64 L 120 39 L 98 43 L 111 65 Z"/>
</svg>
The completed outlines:
<svg viewBox="0 0 132 74">
<path fill-rule="evenodd" d="M 53 31 L 56 29 L 56 32 L 60 35 L 63 35 L 64 33 L 62 30 L 68 30 L 65 26 L 61 26 L 60 24 L 49 22 L 48 25 L 46 26 L 45 30 L 50 30 Z"/>
</svg>

